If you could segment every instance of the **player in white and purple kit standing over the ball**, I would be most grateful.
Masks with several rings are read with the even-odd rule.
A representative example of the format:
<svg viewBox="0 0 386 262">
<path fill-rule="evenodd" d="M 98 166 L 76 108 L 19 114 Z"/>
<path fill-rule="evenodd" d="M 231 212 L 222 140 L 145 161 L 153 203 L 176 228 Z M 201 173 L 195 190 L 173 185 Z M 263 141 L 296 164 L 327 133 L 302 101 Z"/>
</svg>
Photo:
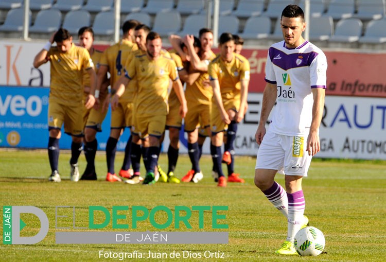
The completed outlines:
<svg viewBox="0 0 386 262">
<path fill-rule="evenodd" d="M 268 51 L 267 84 L 255 134 L 260 145 L 255 185 L 288 221 L 287 239 L 275 253 L 295 255 L 294 236 L 308 224 L 302 178 L 307 177 L 312 156 L 320 151 L 327 59 L 302 37 L 306 23 L 299 6 L 288 5 L 283 10 L 281 25 L 284 41 Z M 276 172 L 285 174 L 285 189 L 274 181 Z"/>
</svg>

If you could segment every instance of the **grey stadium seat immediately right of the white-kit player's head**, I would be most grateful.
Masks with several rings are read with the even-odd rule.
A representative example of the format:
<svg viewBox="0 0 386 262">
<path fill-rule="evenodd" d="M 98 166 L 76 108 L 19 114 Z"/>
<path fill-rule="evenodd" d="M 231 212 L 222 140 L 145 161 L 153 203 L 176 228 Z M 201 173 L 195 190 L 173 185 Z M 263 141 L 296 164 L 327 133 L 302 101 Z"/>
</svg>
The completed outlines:
<svg viewBox="0 0 386 262">
<path fill-rule="evenodd" d="M 331 16 L 310 18 L 309 36 L 311 41 L 325 41 L 334 33 L 334 20 Z"/>
</svg>

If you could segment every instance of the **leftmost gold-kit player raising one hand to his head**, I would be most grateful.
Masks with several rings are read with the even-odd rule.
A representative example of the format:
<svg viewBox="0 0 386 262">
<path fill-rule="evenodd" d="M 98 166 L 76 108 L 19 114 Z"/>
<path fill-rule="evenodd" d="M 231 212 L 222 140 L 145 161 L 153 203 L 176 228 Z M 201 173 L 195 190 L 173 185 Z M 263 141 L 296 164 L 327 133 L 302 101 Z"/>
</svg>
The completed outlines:
<svg viewBox="0 0 386 262">
<path fill-rule="evenodd" d="M 56 42 L 56 47 L 51 47 Z M 76 58 L 76 61 L 74 60 Z M 61 128 L 72 136 L 71 144 L 71 180 L 79 180 L 78 159 L 82 150 L 83 107 L 94 106 L 94 91 L 96 89 L 96 74 L 89 52 L 73 44 L 69 32 L 60 28 L 52 34 L 49 41 L 33 60 L 33 66 L 38 68 L 50 61 L 50 92 L 48 101 L 48 158 L 51 166 L 49 181 L 60 182 L 58 172 L 59 139 Z M 83 69 L 90 76 L 90 93 L 83 104 Z"/>
</svg>

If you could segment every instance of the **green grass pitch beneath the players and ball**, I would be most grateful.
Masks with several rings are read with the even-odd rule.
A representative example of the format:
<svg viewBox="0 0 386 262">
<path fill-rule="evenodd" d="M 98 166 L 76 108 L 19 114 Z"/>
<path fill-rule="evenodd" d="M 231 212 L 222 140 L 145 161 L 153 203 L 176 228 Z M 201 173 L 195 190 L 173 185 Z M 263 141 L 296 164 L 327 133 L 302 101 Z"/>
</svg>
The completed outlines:
<svg viewBox="0 0 386 262">
<path fill-rule="evenodd" d="M 119 260 L 99 259 L 100 250 L 106 252 L 137 250 L 145 253 L 149 250 L 166 253 L 176 251 L 181 254 L 184 250 L 201 254 L 205 251 L 225 253 L 225 259 L 164 259 L 175 261 L 385 260 L 386 162 L 384 161 L 314 159 L 309 177 L 303 181 L 305 214 L 309 217 L 310 224 L 324 233 L 326 247 L 318 257 L 283 257 L 274 255 L 274 251 L 285 240 L 287 223 L 253 184 L 255 158 L 236 159 L 236 171 L 241 173 L 245 184 L 229 184 L 226 188 L 218 188 L 210 176 L 212 160 L 209 156 L 202 158 L 204 179 L 199 184 L 156 183 L 153 186 L 104 182 L 107 172 L 104 152 L 98 153 L 96 158 L 99 180 L 73 183 L 68 180 L 69 157 L 68 152 L 61 152 L 59 171 L 62 182 L 57 184 L 47 182 L 50 169 L 45 150 L 0 150 L 1 205 L 37 206 L 47 214 L 50 221 L 50 230 L 46 238 L 37 244 L 4 245 L 1 236 L 2 261 Z M 122 153 L 117 153 L 116 171 L 119 170 L 122 159 Z M 165 154 L 161 155 L 160 163 L 166 169 Z M 177 177 L 184 176 L 190 167 L 189 163 L 187 156 L 180 156 L 175 172 Z M 85 166 L 84 156 L 81 156 L 79 164 L 82 171 Z M 225 166 L 223 169 L 226 173 Z M 278 175 L 276 180 L 283 185 L 283 176 Z M 229 244 L 56 244 L 55 232 L 59 229 L 55 229 L 55 207 L 63 205 L 76 207 L 78 227 L 88 225 L 88 207 L 91 205 L 105 206 L 110 211 L 115 205 L 143 205 L 149 209 L 157 205 L 166 205 L 172 211 L 177 205 L 189 207 L 227 205 L 229 211 L 223 214 L 226 214 L 225 221 L 229 224 L 229 229 L 217 231 L 229 232 Z M 71 212 L 67 212 L 70 217 Z M 165 221 L 162 213 L 157 215 L 156 219 Z M 27 226 L 21 231 L 21 236 L 37 234 L 40 228 L 39 220 L 26 214 L 22 215 L 22 219 Z M 192 225 L 191 230 L 183 227 L 177 230 L 171 226 L 163 231 L 202 231 L 198 228 L 197 213 L 194 213 L 189 221 Z M 216 231 L 211 228 L 209 212 L 205 212 L 204 221 L 204 231 Z M 72 219 L 64 219 L 62 223 L 71 225 Z M 125 231 L 157 231 L 148 222 L 139 222 L 135 230 L 131 229 L 130 223 L 129 227 Z M 111 224 L 104 230 L 115 231 L 111 228 Z M 131 261 L 138 260 L 143 259 L 131 259 Z"/>
</svg>

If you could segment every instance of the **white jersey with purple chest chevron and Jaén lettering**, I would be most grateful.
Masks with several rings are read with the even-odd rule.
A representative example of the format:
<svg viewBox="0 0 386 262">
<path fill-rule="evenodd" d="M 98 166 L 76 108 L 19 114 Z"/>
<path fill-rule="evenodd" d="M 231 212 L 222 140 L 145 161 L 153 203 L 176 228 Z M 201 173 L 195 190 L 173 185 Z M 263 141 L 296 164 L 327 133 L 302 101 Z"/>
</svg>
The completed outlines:
<svg viewBox="0 0 386 262">
<path fill-rule="evenodd" d="M 277 85 L 271 132 L 308 135 L 313 106 L 311 89 L 326 88 L 326 71 L 326 56 L 308 41 L 292 49 L 288 49 L 284 41 L 269 48 L 265 80 Z"/>
</svg>

